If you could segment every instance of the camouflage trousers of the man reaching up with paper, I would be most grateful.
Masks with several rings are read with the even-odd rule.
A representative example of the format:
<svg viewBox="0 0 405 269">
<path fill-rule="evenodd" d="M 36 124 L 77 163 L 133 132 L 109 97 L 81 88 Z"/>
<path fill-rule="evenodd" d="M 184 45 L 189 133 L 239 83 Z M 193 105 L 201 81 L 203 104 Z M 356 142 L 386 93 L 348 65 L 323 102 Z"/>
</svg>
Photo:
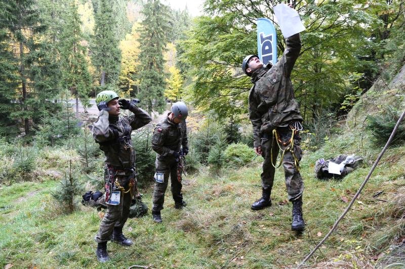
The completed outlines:
<svg viewBox="0 0 405 269">
<path fill-rule="evenodd" d="M 287 142 L 291 139 L 292 130 L 289 128 L 280 128 L 277 129 L 279 138 L 283 142 Z M 297 160 L 300 161 L 302 157 L 302 150 L 300 147 L 301 137 L 299 134 L 294 136 L 294 154 L 297 157 Z M 282 145 L 280 147 L 285 150 L 289 145 Z M 262 156 L 263 160 L 263 173 L 261 174 L 262 178 L 262 188 L 265 190 L 271 190 L 273 187 L 274 181 L 274 172 L 275 168 L 271 164 L 271 150 L 273 151 L 273 164 L 276 165 L 277 155 L 279 152 L 279 148 L 275 139 L 273 139 L 272 134 L 264 134 L 261 138 L 261 147 L 262 147 Z M 277 164 L 278 165 L 278 164 Z M 277 166 L 276 165 L 276 166 Z M 288 193 L 289 201 L 293 201 L 302 196 L 304 191 L 304 182 L 301 178 L 300 172 L 297 170 L 294 162 L 293 153 L 290 151 L 286 151 L 284 157 L 282 159 L 282 166 L 284 167 L 284 174 L 286 177 L 286 187 Z"/>
</svg>

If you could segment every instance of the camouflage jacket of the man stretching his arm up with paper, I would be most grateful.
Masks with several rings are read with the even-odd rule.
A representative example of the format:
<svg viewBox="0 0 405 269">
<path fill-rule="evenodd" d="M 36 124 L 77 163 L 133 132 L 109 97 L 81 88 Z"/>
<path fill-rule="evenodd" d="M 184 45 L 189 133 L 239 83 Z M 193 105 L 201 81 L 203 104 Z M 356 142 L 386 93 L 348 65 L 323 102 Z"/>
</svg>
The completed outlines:
<svg viewBox="0 0 405 269">
<path fill-rule="evenodd" d="M 260 146 L 261 134 L 286 127 L 291 121 L 302 122 L 290 78 L 301 50 L 300 34 L 288 37 L 286 44 L 281 59 L 274 66 L 268 64 L 252 74 L 249 118 L 253 124 L 254 147 Z"/>
</svg>

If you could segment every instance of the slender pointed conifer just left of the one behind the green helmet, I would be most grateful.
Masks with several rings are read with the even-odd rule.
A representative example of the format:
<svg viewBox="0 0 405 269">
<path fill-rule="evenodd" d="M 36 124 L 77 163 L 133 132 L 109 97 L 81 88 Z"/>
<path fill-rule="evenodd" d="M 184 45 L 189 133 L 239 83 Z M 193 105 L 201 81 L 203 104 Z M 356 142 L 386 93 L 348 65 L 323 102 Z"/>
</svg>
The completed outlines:
<svg viewBox="0 0 405 269">
<path fill-rule="evenodd" d="M 91 88 L 91 76 L 86 61 L 86 47 L 81 42 L 84 39 L 80 29 L 81 21 L 74 0 L 69 0 L 60 34 L 60 58 L 62 67 L 62 86 L 69 89 L 76 99 L 76 117 L 78 116 L 78 99 L 84 107 L 89 105 L 88 94 Z"/>
</svg>

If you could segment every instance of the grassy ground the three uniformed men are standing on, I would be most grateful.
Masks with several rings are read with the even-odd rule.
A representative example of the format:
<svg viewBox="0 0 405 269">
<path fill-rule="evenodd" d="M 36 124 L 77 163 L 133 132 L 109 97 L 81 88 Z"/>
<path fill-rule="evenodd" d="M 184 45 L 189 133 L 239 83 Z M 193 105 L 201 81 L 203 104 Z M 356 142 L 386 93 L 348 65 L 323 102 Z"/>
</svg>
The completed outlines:
<svg viewBox="0 0 405 269">
<path fill-rule="evenodd" d="M 43 177 L 35 182 L 0 189 L 0 266 L 295 267 L 340 216 L 348 204 L 346 201 L 350 201 L 376 156 L 375 151 L 356 148 L 359 142 L 355 142 L 355 136 L 347 139 L 346 142 L 330 141 L 321 150 L 303 157 L 303 211 L 307 226 L 301 235 L 291 231 L 292 205 L 287 202 L 281 169 L 275 176 L 271 195 L 273 205 L 253 211 L 250 204 L 261 195 L 260 162 L 240 169 L 223 170 L 220 174 L 202 168 L 184 180 L 186 208 L 175 209 L 168 190 L 162 211 L 164 222 L 153 223 L 150 212 L 143 218 L 129 220 L 124 233 L 134 245 L 122 247 L 108 243 L 111 262 L 100 265 L 95 256 L 97 244 L 94 241 L 100 222 L 98 212 L 79 204 L 74 213 L 63 213 L 51 196 L 58 182 Z M 350 145 L 351 152 L 342 151 L 348 148 L 347 145 Z M 398 210 L 403 210 L 403 201 L 391 202 L 405 190 L 404 151 L 405 147 L 397 147 L 386 153 L 337 232 L 306 266 L 328 268 L 346 264 L 342 268 L 361 268 L 365 266 L 361 264 L 374 265 L 374 259 L 381 255 L 389 256 L 389 246 L 398 243 L 405 234 L 405 221 L 397 214 Z M 315 160 L 321 156 L 332 157 L 336 152 L 363 153 L 366 155 L 365 164 L 341 181 L 314 179 Z M 84 188 L 83 193 L 85 191 Z M 151 186 L 141 191 L 143 200 L 151 208 Z M 377 199 L 373 198 L 378 191 L 383 193 Z"/>
</svg>

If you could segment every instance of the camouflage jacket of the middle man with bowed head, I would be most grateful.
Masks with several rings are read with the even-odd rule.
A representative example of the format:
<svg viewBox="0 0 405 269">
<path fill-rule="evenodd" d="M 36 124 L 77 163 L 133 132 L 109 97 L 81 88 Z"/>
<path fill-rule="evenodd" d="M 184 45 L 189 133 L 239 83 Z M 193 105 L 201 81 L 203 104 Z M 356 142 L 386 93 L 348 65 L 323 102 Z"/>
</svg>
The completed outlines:
<svg viewBox="0 0 405 269">
<path fill-rule="evenodd" d="M 168 114 L 168 116 L 170 113 Z M 152 136 L 152 148 L 156 151 L 157 159 L 166 158 L 179 152 L 180 147 L 188 147 L 187 126 L 183 120 L 175 124 L 169 120 L 169 117 L 156 124 Z"/>
</svg>

